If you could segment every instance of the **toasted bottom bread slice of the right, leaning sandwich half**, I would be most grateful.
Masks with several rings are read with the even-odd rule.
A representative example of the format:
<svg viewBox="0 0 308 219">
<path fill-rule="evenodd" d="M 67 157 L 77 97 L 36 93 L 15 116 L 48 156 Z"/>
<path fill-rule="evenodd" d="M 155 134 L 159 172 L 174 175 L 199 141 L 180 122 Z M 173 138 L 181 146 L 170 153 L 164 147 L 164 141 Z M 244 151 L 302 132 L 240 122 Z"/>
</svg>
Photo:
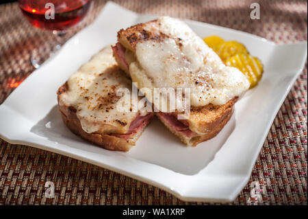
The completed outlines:
<svg viewBox="0 0 308 219">
<path fill-rule="evenodd" d="M 218 112 L 217 112 L 218 113 Z M 230 110 L 225 111 L 220 115 L 220 117 L 217 117 L 218 119 L 215 119 L 211 122 L 207 122 L 203 124 L 203 128 L 208 127 L 209 129 L 203 130 L 203 132 L 206 132 L 204 135 L 195 135 L 193 137 L 186 137 L 185 135 L 181 134 L 181 132 L 177 132 L 176 130 L 170 128 L 168 124 L 164 122 L 164 119 L 159 116 L 159 114 L 156 114 L 158 119 L 172 132 L 174 135 L 179 137 L 183 143 L 187 146 L 196 146 L 198 143 L 201 143 L 203 141 L 207 141 L 209 139 L 214 138 L 222 128 L 229 122 L 231 116 L 233 113 L 233 106 L 231 106 Z M 203 117 L 207 117 L 207 115 L 202 115 Z M 210 119 L 210 118 L 209 118 Z"/>
</svg>

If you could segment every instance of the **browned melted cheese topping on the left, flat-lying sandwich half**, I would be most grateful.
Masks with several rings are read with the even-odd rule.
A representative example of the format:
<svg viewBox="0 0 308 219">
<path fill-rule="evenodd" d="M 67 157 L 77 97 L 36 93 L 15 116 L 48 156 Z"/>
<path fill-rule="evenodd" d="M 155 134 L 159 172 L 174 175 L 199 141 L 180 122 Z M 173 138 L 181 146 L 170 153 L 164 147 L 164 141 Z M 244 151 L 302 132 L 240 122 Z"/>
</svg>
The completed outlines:
<svg viewBox="0 0 308 219">
<path fill-rule="evenodd" d="M 131 92 L 131 80 L 116 65 L 110 46 L 82 65 L 67 83 L 68 91 L 60 95 L 60 105 L 76 108 L 81 126 L 88 133 L 125 134 L 138 115 L 116 109 L 120 100 L 116 91 L 127 88 Z"/>
</svg>

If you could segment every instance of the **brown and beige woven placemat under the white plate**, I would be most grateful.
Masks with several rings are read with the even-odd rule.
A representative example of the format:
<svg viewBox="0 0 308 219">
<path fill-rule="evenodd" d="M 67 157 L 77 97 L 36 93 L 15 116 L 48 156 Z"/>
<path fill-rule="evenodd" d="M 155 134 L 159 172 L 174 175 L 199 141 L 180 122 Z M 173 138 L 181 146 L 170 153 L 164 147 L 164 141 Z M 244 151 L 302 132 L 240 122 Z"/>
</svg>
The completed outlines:
<svg viewBox="0 0 308 219">
<path fill-rule="evenodd" d="M 249 18 L 253 2 L 116 1 L 135 12 L 231 27 L 276 43 L 307 41 L 307 1 L 258 1 L 260 20 Z M 94 1 L 93 11 L 71 34 L 91 23 L 104 4 Z M 29 63 L 31 51 L 38 48 L 48 53 L 50 45 L 44 43 L 48 39 L 53 39 L 52 34 L 31 27 L 17 3 L 0 5 L 0 103 L 34 71 Z M 44 196 L 46 181 L 55 183 L 55 198 Z M 262 198 L 249 202 L 250 183 L 255 181 L 262 187 Z M 211 203 L 185 203 L 127 176 L 0 139 L 0 205 L 196 204 Z M 231 204 L 307 205 L 307 64 L 274 119 L 250 182 Z"/>
</svg>

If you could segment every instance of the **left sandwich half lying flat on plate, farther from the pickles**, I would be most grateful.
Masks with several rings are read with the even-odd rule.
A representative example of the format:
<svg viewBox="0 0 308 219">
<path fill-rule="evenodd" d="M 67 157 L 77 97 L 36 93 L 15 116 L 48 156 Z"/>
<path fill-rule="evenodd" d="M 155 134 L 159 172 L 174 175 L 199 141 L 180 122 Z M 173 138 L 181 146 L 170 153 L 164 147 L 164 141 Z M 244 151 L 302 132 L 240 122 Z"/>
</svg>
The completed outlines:
<svg viewBox="0 0 308 219">
<path fill-rule="evenodd" d="M 135 145 L 153 113 L 119 112 L 119 88 L 131 91 L 131 80 L 123 77 L 105 47 L 73 73 L 57 91 L 62 119 L 75 134 L 108 150 L 128 151 Z"/>
</svg>

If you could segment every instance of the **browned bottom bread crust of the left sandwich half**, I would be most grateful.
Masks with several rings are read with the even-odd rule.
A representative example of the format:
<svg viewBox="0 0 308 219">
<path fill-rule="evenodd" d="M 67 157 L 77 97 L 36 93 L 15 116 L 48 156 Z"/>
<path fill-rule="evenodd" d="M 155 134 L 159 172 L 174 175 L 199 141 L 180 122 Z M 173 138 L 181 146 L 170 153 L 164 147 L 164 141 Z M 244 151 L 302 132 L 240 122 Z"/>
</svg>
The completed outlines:
<svg viewBox="0 0 308 219">
<path fill-rule="evenodd" d="M 60 95 L 68 89 L 67 83 L 63 84 L 57 90 L 57 100 L 59 102 Z M 94 143 L 101 148 L 105 148 L 107 150 L 120 150 L 120 151 L 129 151 L 132 146 L 136 144 L 137 139 L 142 135 L 142 131 L 138 132 L 133 138 L 129 140 L 121 139 L 119 137 L 115 137 L 112 135 L 104 135 L 97 133 L 88 133 L 85 132 L 80 124 L 80 121 L 76 115 L 76 109 L 73 106 L 59 106 L 60 113 L 62 115 L 62 119 L 64 124 L 73 132 L 75 135 L 79 135 L 80 137 Z"/>
</svg>

